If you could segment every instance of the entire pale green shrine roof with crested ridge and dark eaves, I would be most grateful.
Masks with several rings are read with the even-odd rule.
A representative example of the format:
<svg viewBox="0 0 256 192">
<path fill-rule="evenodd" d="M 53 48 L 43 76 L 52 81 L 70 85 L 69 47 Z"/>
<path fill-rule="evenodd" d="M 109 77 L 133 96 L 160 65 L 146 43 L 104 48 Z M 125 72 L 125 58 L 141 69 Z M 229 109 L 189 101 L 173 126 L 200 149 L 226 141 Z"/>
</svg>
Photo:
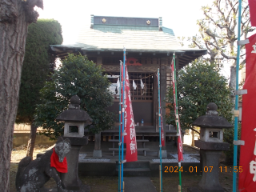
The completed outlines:
<svg viewBox="0 0 256 192">
<path fill-rule="evenodd" d="M 150 22 L 151 21 L 151 22 Z M 206 50 L 184 48 L 174 31 L 162 26 L 162 18 L 123 18 L 91 16 L 91 25 L 83 26 L 73 45 L 54 45 L 51 50 L 60 57 L 73 51 L 126 52 L 181 55 L 180 64 L 186 66 Z M 183 55 L 183 56 L 182 56 Z M 163 56 L 163 55 L 162 55 Z"/>
</svg>

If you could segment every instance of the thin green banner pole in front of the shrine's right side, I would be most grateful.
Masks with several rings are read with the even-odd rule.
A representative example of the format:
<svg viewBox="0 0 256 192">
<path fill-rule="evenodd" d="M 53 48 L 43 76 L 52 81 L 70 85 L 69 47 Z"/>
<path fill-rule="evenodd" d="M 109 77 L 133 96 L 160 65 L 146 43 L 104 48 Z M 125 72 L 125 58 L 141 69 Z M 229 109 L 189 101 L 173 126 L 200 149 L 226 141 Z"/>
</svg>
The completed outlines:
<svg viewBox="0 0 256 192">
<path fill-rule="evenodd" d="M 175 106 L 176 106 L 176 114 L 175 114 L 175 122 L 176 122 L 176 127 L 177 127 L 177 134 L 178 137 L 180 137 L 179 135 L 181 135 L 182 133 L 179 133 L 179 118 L 178 118 L 178 100 L 177 100 L 177 83 L 176 83 L 176 61 L 175 61 L 175 53 L 173 54 L 173 59 L 174 59 L 174 89 L 175 89 Z M 178 144 L 179 145 L 179 144 Z M 179 146 L 178 146 L 179 148 Z M 179 149 L 178 149 L 179 150 Z M 182 192 L 182 172 L 181 172 L 181 162 L 178 160 L 178 178 L 179 178 L 179 185 L 178 185 L 178 192 Z"/>
</svg>

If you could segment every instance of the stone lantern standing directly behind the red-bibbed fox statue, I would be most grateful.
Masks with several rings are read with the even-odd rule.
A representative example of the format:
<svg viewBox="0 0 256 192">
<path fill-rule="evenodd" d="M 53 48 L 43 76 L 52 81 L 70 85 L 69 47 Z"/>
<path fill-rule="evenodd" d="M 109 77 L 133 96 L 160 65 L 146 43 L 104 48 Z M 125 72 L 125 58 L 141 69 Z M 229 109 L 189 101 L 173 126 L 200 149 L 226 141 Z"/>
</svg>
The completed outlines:
<svg viewBox="0 0 256 192">
<path fill-rule="evenodd" d="M 69 109 L 59 114 L 56 120 L 65 122 L 63 138 L 69 138 L 71 142 L 71 150 L 66 155 L 68 172 L 61 174 L 62 183 L 66 190 L 90 191 L 89 186 L 83 186 L 78 178 L 78 160 L 81 147 L 88 144 L 84 128 L 91 124 L 92 119 L 86 111 L 80 110 L 80 98 L 74 95 L 70 98 Z"/>
</svg>

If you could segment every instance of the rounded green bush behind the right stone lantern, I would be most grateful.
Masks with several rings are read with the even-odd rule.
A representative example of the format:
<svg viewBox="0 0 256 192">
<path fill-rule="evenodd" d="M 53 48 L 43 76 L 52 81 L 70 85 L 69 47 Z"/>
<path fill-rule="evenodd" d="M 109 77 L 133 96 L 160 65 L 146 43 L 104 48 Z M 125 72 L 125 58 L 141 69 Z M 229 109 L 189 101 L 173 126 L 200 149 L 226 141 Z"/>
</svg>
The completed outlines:
<svg viewBox="0 0 256 192">
<path fill-rule="evenodd" d="M 192 122 L 199 116 L 206 114 L 206 106 L 214 102 L 218 106 L 218 114 L 232 123 L 232 103 L 230 90 L 226 78 L 220 75 L 214 64 L 198 60 L 190 66 L 178 71 L 178 112 L 180 114 L 182 129 L 192 127 Z M 173 103 L 173 92 L 169 91 L 167 98 Z M 167 123 L 175 124 L 174 108 L 170 108 Z"/>
</svg>

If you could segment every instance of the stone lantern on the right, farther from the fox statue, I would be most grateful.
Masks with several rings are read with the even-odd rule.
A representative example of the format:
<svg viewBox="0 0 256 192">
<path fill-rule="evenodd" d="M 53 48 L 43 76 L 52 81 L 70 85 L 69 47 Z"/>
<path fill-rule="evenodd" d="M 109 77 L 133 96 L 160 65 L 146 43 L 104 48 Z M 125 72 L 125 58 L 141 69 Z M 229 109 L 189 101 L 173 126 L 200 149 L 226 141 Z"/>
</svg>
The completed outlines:
<svg viewBox="0 0 256 192">
<path fill-rule="evenodd" d="M 197 187 L 190 187 L 188 192 L 224 192 L 218 180 L 218 161 L 222 150 L 229 150 L 229 143 L 223 142 L 223 129 L 232 125 L 226 118 L 218 116 L 218 107 L 214 102 L 207 106 L 206 115 L 197 118 L 192 125 L 200 127 L 200 140 L 194 146 L 200 148 L 202 155 L 202 179 Z"/>
</svg>

